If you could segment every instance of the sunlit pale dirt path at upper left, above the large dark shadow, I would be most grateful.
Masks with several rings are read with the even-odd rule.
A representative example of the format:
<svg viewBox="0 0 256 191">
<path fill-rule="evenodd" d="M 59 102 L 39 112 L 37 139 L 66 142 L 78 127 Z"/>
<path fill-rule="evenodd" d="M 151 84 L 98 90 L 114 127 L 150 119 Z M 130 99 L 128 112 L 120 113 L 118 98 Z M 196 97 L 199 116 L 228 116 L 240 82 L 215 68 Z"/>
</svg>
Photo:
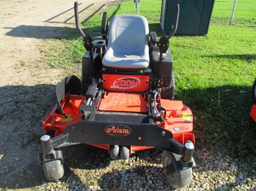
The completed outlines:
<svg viewBox="0 0 256 191">
<path fill-rule="evenodd" d="M 81 19 L 111 1 L 114 0 L 81 0 Z M 44 39 L 60 38 L 65 27 L 75 26 L 74 2 L 1 0 L 0 6 L 0 86 L 34 84 L 30 71 L 22 65 L 40 60 L 39 46 Z"/>
</svg>

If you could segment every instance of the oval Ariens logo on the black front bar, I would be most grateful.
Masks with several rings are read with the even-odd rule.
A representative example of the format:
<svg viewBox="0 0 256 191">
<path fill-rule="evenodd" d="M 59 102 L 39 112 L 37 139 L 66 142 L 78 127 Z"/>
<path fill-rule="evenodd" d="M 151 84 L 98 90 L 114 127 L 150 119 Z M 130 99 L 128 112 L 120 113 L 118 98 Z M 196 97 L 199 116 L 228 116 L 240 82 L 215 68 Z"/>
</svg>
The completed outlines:
<svg viewBox="0 0 256 191">
<path fill-rule="evenodd" d="M 109 125 L 105 128 L 106 134 L 112 135 L 112 136 L 126 136 L 130 134 L 132 131 L 129 127 L 124 125 Z"/>
</svg>

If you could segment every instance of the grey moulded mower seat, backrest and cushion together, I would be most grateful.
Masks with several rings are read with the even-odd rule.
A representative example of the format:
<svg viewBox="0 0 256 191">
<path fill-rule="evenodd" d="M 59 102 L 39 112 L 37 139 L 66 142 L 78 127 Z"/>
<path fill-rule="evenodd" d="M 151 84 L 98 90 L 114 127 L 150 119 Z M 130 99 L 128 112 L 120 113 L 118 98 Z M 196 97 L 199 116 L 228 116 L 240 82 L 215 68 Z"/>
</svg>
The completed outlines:
<svg viewBox="0 0 256 191">
<path fill-rule="evenodd" d="M 140 15 L 116 15 L 108 31 L 108 50 L 102 59 L 106 68 L 144 70 L 149 64 L 148 21 Z"/>
</svg>

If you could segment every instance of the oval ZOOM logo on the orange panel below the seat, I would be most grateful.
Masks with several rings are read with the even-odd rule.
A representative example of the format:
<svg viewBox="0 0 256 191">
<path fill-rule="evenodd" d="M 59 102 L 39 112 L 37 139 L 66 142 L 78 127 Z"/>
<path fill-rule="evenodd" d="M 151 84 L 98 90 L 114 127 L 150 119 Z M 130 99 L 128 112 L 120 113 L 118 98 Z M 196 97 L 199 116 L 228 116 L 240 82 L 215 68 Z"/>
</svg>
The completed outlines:
<svg viewBox="0 0 256 191">
<path fill-rule="evenodd" d="M 122 77 L 114 81 L 113 86 L 110 88 L 113 89 L 128 89 L 139 86 L 141 81 L 136 77 Z"/>
</svg>

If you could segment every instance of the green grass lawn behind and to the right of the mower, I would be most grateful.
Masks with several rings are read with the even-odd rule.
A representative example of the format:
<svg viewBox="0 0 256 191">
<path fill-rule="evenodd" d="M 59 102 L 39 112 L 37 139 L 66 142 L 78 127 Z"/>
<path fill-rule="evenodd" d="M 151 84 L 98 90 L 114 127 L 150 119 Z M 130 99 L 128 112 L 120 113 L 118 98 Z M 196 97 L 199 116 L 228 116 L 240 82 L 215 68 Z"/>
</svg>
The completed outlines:
<svg viewBox="0 0 256 191">
<path fill-rule="evenodd" d="M 256 3 L 256 0 L 250 1 Z M 182 100 L 194 114 L 198 148 L 219 147 L 229 156 L 255 156 L 256 123 L 249 112 L 251 86 L 256 78 L 256 12 L 237 11 L 233 24 L 229 25 L 231 11 L 218 9 L 232 9 L 233 2 L 216 2 L 208 37 L 170 39 L 175 100 Z M 158 37 L 162 36 L 161 3 L 161 0 L 141 0 L 139 4 L 139 13 L 148 19 L 149 31 L 155 31 Z M 256 4 L 237 3 L 236 8 L 253 10 L 252 5 Z M 115 14 L 135 14 L 135 3 L 127 1 L 104 11 L 108 11 L 109 20 Z M 82 21 L 84 32 L 100 36 L 101 17 L 102 12 Z M 53 40 L 56 45 L 46 52 L 49 67 L 81 64 L 85 53 L 82 42 L 72 45 L 78 37 L 79 33 L 70 29 L 65 38 Z"/>
</svg>

